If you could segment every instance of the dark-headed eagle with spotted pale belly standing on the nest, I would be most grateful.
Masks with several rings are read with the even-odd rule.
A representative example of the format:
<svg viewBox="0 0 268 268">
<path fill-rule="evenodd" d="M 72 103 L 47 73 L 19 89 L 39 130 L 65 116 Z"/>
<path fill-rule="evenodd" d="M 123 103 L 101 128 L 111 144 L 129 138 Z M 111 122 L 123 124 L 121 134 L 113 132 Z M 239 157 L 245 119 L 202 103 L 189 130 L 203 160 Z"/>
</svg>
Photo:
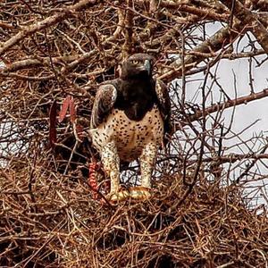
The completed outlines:
<svg viewBox="0 0 268 268">
<path fill-rule="evenodd" d="M 133 54 L 121 63 L 116 80 L 105 81 L 96 91 L 90 132 L 111 179 L 107 198 L 151 197 L 151 175 L 155 156 L 165 133 L 171 130 L 171 102 L 167 88 L 152 76 L 154 58 Z M 120 186 L 120 162 L 139 157 L 141 185 L 129 190 Z"/>
</svg>

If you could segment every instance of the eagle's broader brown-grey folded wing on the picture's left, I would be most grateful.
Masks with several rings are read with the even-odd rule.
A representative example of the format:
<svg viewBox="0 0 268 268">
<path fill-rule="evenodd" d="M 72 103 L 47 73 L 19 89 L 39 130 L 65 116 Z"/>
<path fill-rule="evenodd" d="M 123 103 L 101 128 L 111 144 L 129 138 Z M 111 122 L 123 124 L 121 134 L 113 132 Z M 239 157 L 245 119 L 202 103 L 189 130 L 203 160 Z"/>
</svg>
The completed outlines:
<svg viewBox="0 0 268 268">
<path fill-rule="evenodd" d="M 105 83 L 97 88 L 91 113 L 91 129 L 96 129 L 98 125 L 105 121 L 107 115 L 113 109 L 116 98 L 117 89 L 112 83 Z"/>
</svg>

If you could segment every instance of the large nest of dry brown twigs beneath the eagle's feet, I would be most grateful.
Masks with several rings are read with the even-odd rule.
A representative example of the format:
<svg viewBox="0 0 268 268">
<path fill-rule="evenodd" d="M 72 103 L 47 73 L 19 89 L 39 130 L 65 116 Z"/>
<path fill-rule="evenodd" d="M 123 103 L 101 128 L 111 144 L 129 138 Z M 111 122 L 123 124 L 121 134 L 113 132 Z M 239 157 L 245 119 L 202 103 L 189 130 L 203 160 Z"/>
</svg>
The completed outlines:
<svg viewBox="0 0 268 268">
<path fill-rule="evenodd" d="M 268 219 L 235 185 L 181 175 L 146 202 L 94 200 L 77 172 L 13 161 L 0 173 L 1 267 L 265 267 Z"/>
</svg>

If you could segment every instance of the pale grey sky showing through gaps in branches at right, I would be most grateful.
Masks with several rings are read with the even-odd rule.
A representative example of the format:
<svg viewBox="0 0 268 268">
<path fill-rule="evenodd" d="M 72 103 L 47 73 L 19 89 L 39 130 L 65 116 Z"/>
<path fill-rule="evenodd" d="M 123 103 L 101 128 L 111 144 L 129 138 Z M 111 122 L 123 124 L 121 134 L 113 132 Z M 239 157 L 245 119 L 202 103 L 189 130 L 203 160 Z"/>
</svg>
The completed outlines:
<svg viewBox="0 0 268 268">
<path fill-rule="evenodd" d="M 206 32 L 209 36 L 213 35 L 218 29 L 222 28 L 222 25 L 218 24 L 211 24 L 206 28 Z M 253 35 L 249 33 L 249 36 L 254 39 Z M 250 51 L 250 47 L 246 47 L 248 44 L 247 37 L 244 37 L 242 40 L 236 42 L 233 46 L 234 53 L 243 51 Z M 257 48 L 261 48 L 257 44 Z M 258 61 L 262 61 L 266 58 L 266 55 L 257 56 L 256 59 Z M 268 61 L 263 63 L 260 67 L 256 67 L 257 63 L 253 59 L 252 61 L 252 76 L 254 78 L 253 85 L 255 92 L 262 91 L 265 88 L 268 88 Z M 239 96 L 247 96 L 250 94 L 250 86 L 249 86 L 249 61 L 248 58 L 239 59 L 239 60 L 221 60 L 218 65 L 215 65 L 211 72 L 214 73 L 216 71 L 217 81 L 222 85 L 222 88 L 225 92 L 230 96 L 231 99 L 235 98 L 235 84 L 237 88 L 237 94 Z M 235 77 L 234 77 L 235 74 Z M 198 73 L 196 75 L 192 75 L 188 77 L 190 82 L 187 83 L 187 100 L 193 101 L 194 96 L 197 93 L 198 88 L 203 83 L 204 74 Z M 235 81 L 236 80 L 236 81 Z M 180 81 L 181 82 L 181 81 Z M 207 85 L 211 84 L 211 80 L 208 80 Z M 213 96 L 214 96 L 214 103 L 220 101 L 220 91 L 219 88 L 214 85 L 213 88 Z M 201 100 L 201 90 L 199 89 L 199 97 L 198 100 Z M 209 105 L 207 103 L 206 105 Z M 233 112 L 233 108 L 227 109 L 223 114 L 225 117 L 224 122 L 228 125 L 230 122 L 230 114 Z M 259 121 L 257 121 L 259 120 Z M 239 133 L 241 130 L 244 130 L 247 126 L 255 123 L 250 129 L 243 132 L 240 137 L 244 140 L 253 138 L 255 136 L 264 134 L 265 137 L 268 137 L 268 97 L 255 100 L 247 105 L 239 105 L 235 108 L 235 116 L 234 116 L 234 123 L 232 125 L 232 130 L 236 133 Z M 226 146 L 232 145 L 236 142 L 236 139 L 230 139 L 224 141 Z M 255 143 L 255 140 L 252 139 L 251 149 L 257 151 L 257 148 L 263 147 L 264 144 L 260 142 Z M 239 147 L 232 147 L 230 152 L 232 153 L 239 153 L 242 154 L 248 152 L 247 146 Z M 268 153 L 268 152 L 266 152 Z M 263 187 L 263 190 L 266 190 L 266 197 L 268 197 L 268 159 L 264 160 L 266 164 L 259 164 L 258 167 L 261 169 L 263 174 L 267 174 L 267 179 L 265 179 L 264 184 L 266 188 Z M 254 171 L 254 169 L 252 169 Z M 258 183 L 259 185 L 260 183 Z M 264 198 L 260 199 L 262 203 L 266 203 Z M 268 205 L 266 203 L 266 205 Z"/>
</svg>

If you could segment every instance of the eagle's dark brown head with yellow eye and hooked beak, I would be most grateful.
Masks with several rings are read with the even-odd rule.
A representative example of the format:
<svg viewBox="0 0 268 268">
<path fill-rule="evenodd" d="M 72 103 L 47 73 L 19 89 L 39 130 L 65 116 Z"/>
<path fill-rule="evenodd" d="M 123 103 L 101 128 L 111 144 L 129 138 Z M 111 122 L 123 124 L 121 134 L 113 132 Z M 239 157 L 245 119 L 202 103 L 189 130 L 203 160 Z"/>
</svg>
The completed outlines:
<svg viewBox="0 0 268 268">
<path fill-rule="evenodd" d="M 154 57 L 149 54 L 132 54 L 121 63 L 121 79 L 151 78 Z"/>
</svg>

